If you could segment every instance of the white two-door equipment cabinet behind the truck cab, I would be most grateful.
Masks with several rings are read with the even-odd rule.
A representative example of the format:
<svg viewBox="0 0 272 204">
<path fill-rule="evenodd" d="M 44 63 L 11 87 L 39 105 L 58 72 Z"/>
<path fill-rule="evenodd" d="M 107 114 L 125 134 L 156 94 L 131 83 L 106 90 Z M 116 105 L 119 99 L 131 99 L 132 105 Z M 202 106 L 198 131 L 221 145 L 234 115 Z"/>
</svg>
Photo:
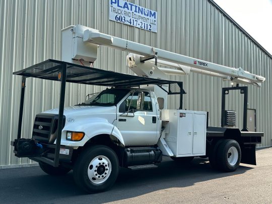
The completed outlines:
<svg viewBox="0 0 272 204">
<path fill-rule="evenodd" d="M 206 154 L 207 112 L 163 110 L 162 120 L 169 121 L 165 142 L 175 157 Z"/>
</svg>

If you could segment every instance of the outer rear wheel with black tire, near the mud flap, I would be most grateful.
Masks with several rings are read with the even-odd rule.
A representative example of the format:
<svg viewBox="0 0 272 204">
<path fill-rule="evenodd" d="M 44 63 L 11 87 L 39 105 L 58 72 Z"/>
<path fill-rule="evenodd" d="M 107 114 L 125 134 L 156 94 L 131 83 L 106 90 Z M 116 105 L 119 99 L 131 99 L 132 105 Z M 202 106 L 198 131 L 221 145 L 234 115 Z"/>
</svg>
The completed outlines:
<svg viewBox="0 0 272 204">
<path fill-rule="evenodd" d="M 224 140 L 218 148 L 218 166 L 226 172 L 235 171 L 241 161 L 241 149 L 235 140 Z"/>
</svg>

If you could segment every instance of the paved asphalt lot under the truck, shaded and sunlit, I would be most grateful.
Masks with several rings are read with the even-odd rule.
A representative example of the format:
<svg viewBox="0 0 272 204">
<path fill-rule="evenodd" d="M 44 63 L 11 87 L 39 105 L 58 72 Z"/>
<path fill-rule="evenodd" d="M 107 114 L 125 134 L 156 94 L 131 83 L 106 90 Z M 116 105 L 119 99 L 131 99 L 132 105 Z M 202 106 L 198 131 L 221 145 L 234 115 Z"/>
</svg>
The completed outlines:
<svg viewBox="0 0 272 204">
<path fill-rule="evenodd" d="M 211 169 L 205 159 L 178 165 L 164 158 L 157 169 L 121 169 L 107 192 L 86 194 L 73 173 L 52 177 L 39 167 L 0 170 L 0 203 L 272 203 L 272 148 L 257 151 L 257 166 L 236 172 Z"/>
</svg>

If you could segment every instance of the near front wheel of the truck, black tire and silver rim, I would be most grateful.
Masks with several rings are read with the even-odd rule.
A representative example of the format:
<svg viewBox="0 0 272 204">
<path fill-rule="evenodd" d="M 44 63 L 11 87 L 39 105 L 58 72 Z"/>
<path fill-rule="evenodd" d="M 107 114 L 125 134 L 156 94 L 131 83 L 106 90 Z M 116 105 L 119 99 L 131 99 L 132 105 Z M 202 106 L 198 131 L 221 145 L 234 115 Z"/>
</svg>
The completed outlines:
<svg viewBox="0 0 272 204">
<path fill-rule="evenodd" d="M 74 165 L 74 180 L 83 190 L 94 193 L 109 189 L 119 171 L 115 152 L 107 146 L 97 145 L 86 149 Z"/>
</svg>

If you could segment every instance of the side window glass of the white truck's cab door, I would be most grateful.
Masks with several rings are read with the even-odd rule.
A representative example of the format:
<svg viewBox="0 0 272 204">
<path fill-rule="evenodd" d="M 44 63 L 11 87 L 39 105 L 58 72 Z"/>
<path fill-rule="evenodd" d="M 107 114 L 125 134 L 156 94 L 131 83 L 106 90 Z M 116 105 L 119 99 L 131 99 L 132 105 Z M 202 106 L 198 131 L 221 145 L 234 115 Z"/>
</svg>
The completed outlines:
<svg viewBox="0 0 272 204">
<path fill-rule="evenodd" d="M 148 92 L 134 92 L 131 93 L 124 101 L 125 111 L 143 110 L 152 111 L 151 97 Z"/>
</svg>

